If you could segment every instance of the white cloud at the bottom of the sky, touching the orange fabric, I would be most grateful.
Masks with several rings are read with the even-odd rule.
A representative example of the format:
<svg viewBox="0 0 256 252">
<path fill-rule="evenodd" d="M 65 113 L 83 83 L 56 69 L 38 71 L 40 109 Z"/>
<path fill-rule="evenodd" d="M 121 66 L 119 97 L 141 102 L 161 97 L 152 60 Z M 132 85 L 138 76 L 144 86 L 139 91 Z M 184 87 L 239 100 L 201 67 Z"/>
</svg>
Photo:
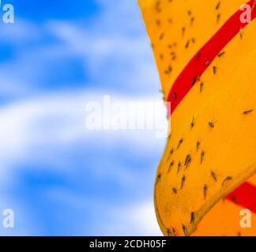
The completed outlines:
<svg viewBox="0 0 256 252">
<path fill-rule="evenodd" d="M 85 198 L 83 195 L 63 191 L 60 188 L 46 192 L 52 202 L 62 202 L 68 206 L 79 209 L 89 215 L 92 220 L 80 220 L 79 226 L 83 227 L 81 235 L 111 235 L 111 236 L 161 236 L 159 225 L 152 199 L 145 198 L 141 202 L 126 202 L 117 204 L 108 198 L 98 201 L 95 198 Z M 93 209 L 88 213 L 88 209 Z M 70 217 L 72 218 L 72 217 Z M 75 216 L 73 226 L 76 228 Z"/>
</svg>

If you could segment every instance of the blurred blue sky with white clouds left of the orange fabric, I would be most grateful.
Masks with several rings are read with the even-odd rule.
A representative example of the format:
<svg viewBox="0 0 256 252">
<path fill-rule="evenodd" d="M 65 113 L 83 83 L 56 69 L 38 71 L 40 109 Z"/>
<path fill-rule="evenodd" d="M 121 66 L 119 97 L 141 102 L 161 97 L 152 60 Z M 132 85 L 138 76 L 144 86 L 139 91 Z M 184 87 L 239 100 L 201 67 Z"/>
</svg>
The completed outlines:
<svg viewBox="0 0 256 252">
<path fill-rule="evenodd" d="M 152 204 L 164 139 L 88 132 L 103 95 L 160 101 L 135 0 L 11 1 L 0 22 L 0 235 L 160 235 Z M 1 12 L 2 14 L 2 12 Z"/>
</svg>

